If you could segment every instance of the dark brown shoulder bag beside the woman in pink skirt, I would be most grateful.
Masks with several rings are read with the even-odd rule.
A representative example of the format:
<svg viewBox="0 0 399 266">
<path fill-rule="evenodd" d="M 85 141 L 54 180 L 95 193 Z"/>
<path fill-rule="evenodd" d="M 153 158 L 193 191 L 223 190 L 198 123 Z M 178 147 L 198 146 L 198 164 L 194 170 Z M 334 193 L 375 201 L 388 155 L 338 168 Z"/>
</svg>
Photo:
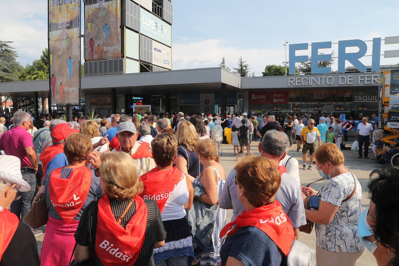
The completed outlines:
<svg viewBox="0 0 399 266">
<path fill-rule="evenodd" d="M 51 173 L 53 173 L 52 170 L 47 176 L 47 179 L 50 178 Z M 28 214 L 24 217 L 24 221 L 35 229 L 47 224 L 47 221 L 49 219 L 48 217 L 49 211 L 47 209 L 44 193 L 40 193 L 39 195 L 34 197 L 33 202 L 34 203 L 32 205 L 32 208 L 30 209 Z"/>
</svg>

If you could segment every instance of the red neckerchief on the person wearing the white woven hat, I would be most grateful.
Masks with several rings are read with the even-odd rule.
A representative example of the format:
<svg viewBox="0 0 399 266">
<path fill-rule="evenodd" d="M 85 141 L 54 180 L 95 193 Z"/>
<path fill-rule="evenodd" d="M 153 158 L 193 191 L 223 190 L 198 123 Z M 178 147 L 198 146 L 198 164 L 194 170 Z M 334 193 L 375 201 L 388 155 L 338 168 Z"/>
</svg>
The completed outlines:
<svg viewBox="0 0 399 266">
<path fill-rule="evenodd" d="M 18 217 L 4 208 L 0 212 L 0 260 L 18 227 Z M 12 258 L 10 258 L 12 260 Z"/>
</svg>

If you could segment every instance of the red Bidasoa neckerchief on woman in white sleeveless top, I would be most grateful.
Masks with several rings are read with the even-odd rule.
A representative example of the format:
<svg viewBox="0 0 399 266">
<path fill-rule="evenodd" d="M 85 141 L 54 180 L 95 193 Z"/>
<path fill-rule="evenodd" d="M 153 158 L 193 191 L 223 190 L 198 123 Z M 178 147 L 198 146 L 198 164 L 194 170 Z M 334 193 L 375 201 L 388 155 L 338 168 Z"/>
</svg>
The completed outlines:
<svg viewBox="0 0 399 266">
<path fill-rule="evenodd" d="M 140 197 L 154 199 L 159 211 L 162 213 L 168 197 L 179 183 L 181 177 L 182 172 L 176 166 L 164 171 L 155 167 L 140 176 L 140 180 L 144 185 L 144 190 Z"/>
</svg>

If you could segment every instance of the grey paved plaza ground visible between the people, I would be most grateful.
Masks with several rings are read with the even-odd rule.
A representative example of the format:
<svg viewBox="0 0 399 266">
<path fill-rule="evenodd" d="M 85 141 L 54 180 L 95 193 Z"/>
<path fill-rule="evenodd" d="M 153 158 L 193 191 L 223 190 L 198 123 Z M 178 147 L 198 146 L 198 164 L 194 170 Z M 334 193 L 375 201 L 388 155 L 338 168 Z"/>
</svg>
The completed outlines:
<svg viewBox="0 0 399 266">
<path fill-rule="evenodd" d="M 354 137 L 349 137 L 348 142 L 346 142 L 346 146 L 350 146 L 354 140 Z M 259 155 L 258 152 L 258 142 L 252 142 L 251 145 L 251 153 L 255 155 Z M 354 173 L 354 175 L 358 178 L 361 187 L 362 187 L 362 205 L 361 209 L 362 211 L 368 207 L 370 198 L 367 194 L 366 187 L 367 183 L 369 181 L 369 175 L 371 171 L 374 169 L 381 167 L 378 164 L 376 164 L 374 161 L 371 160 L 373 158 L 373 153 L 371 151 L 371 147 L 369 148 L 369 157 L 370 159 L 358 159 L 358 152 L 357 151 L 350 151 L 350 150 L 343 150 L 342 151 L 345 156 L 345 163 L 344 166 L 346 169 Z M 222 145 L 222 152 L 219 154 L 220 156 L 220 164 L 223 166 L 226 172 L 226 177 L 228 173 L 233 169 L 235 166 L 235 160 L 237 159 L 237 156 L 233 156 L 233 146 L 223 144 Z M 300 182 L 301 185 L 307 185 L 308 183 L 312 181 L 316 181 L 317 179 L 320 179 L 320 175 L 318 174 L 318 171 L 316 170 L 316 166 L 313 164 L 313 169 L 312 170 L 302 170 L 302 151 L 296 152 L 296 144 L 293 144 L 292 147 L 288 148 L 288 155 L 293 156 L 296 158 L 299 162 L 299 175 L 300 175 Z M 307 163 L 308 164 L 308 163 Z M 316 190 L 320 190 L 323 185 L 325 185 L 327 181 L 319 181 L 315 184 L 312 185 L 312 187 Z M 232 210 L 227 211 L 227 222 L 230 221 L 231 217 L 233 215 Z M 45 226 L 41 227 L 40 230 L 43 230 L 45 232 Z M 43 241 L 45 234 L 41 234 L 36 238 L 38 242 L 38 248 L 39 252 L 41 250 L 41 244 Z M 314 233 L 314 230 L 312 231 L 311 234 L 306 234 L 306 233 L 299 233 L 299 240 L 306 245 L 308 245 L 311 248 L 316 248 L 316 234 Z M 374 258 L 374 256 L 367 250 L 367 248 L 364 250 L 362 256 L 357 260 L 357 265 L 361 266 L 376 266 L 377 262 Z"/>
</svg>

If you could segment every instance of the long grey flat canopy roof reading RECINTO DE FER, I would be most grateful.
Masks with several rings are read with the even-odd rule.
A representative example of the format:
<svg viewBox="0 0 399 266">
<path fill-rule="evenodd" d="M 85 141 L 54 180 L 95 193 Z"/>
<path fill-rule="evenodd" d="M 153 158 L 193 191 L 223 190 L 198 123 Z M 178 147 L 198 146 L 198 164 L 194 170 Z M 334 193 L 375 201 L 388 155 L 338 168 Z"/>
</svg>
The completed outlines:
<svg viewBox="0 0 399 266">
<path fill-rule="evenodd" d="M 179 94 L 213 93 L 221 91 L 221 84 L 229 92 L 263 89 L 336 89 L 338 87 L 368 87 L 378 85 L 379 72 L 288 75 L 268 77 L 240 77 L 222 67 L 182 69 L 160 72 L 131 73 L 81 78 L 81 96 L 110 94 Z M 0 96 L 28 97 L 38 93 L 47 98 L 49 81 L 17 81 L 0 83 Z"/>
</svg>

